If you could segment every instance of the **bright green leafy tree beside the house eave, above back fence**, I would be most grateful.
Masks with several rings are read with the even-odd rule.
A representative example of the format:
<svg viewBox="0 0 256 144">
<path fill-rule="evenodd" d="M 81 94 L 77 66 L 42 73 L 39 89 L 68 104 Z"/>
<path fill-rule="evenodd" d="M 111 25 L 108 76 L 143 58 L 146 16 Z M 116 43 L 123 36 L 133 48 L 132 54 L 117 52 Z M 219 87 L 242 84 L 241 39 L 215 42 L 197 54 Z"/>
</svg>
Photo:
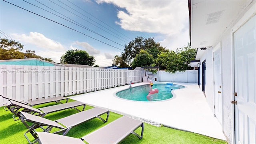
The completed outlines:
<svg viewBox="0 0 256 144">
<path fill-rule="evenodd" d="M 174 52 L 161 52 L 156 59 L 156 63 L 167 72 L 175 73 L 177 71 L 185 71 L 190 69 L 190 60 L 194 60 L 196 49 L 192 49 L 190 45 L 180 48 Z"/>
</svg>

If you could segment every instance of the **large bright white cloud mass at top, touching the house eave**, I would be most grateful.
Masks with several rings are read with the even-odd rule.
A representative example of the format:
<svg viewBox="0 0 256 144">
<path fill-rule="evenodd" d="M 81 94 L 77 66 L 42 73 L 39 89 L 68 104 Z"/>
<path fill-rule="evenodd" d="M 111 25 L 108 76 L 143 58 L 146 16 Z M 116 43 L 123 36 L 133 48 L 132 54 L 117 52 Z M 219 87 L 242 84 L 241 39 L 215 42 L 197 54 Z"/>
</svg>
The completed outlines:
<svg viewBox="0 0 256 144">
<path fill-rule="evenodd" d="M 186 0 L 99 0 L 119 7 L 117 17 L 123 29 L 160 34 L 168 49 L 187 46 L 189 14 Z M 123 11 L 122 8 L 126 10 Z"/>
</svg>

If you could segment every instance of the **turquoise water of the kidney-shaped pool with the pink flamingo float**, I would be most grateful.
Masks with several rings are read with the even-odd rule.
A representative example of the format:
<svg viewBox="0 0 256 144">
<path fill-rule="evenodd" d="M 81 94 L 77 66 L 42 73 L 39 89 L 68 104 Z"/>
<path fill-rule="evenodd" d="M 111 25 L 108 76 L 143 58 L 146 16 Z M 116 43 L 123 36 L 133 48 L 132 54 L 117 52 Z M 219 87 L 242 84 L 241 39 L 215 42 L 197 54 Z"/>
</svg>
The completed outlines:
<svg viewBox="0 0 256 144">
<path fill-rule="evenodd" d="M 185 88 L 184 86 L 173 84 L 170 88 L 165 87 L 166 84 L 154 84 L 152 89 L 157 88 L 158 93 L 150 94 L 150 100 L 147 99 L 148 93 L 150 91 L 150 84 L 136 86 L 126 90 L 122 90 L 116 93 L 116 96 L 119 98 L 124 98 L 127 100 L 136 100 L 136 101 L 159 101 L 167 100 L 172 98 L 171 90 Z"/>
</svg>

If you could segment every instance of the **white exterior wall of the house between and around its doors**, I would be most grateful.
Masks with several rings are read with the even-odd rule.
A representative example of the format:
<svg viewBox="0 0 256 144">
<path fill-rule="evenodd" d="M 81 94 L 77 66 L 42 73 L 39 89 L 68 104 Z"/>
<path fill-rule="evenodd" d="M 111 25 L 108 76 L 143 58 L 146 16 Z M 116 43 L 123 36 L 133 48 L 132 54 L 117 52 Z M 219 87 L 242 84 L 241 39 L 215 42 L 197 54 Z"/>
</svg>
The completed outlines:
<svg viewBox="0 0 256 144">
<path fill-rule="evenodd" d="M 252 1 L 246 8 L 240 10 L 239 16 L 233 19 L 232 24 L 223 35 L 218 38 L 213 48 L 220 43 L 221 70 L 222 70 L 222 130 L 228 143 L 234 144 L 234 105 L 230 103 L 234 99 L 234 63 L 233 63 L 233 32 L 234 28 L 239 28 L 249 17 L 255 14 L 256 2 Z M 254 9 L 254 10 L 252 10 Z M 249 11 L 249 14 L 248 14 Z M 247 12 L 247 13 L 246 13 Z M 245 18 L 246 17 L 246 18 Z M 206 60 L 206 100 L 214 112 L 214 65 L 213 51 L 207 49 L 200 59 L 200 63 Z M 200 89 L 202 90 L 202 66 L 200 67 Z"/>
</svg>

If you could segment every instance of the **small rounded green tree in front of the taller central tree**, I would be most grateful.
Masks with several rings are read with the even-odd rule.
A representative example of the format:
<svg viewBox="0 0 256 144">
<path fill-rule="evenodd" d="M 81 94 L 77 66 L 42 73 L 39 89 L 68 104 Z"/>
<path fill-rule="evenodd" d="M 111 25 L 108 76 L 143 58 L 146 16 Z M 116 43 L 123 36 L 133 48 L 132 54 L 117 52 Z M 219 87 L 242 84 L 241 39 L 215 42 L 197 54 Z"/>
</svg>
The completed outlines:
<svg viewBox="0 0 256 144">
<path fill-rule="evenodd" d="M 154 58 L 152 54 L 149 54 L 146 50 L 140 50 L 139 54 L 136 54 L 132 61 L 132 68 L 140 66 L 150 66 L 153 64 Z"/>
</svg>

